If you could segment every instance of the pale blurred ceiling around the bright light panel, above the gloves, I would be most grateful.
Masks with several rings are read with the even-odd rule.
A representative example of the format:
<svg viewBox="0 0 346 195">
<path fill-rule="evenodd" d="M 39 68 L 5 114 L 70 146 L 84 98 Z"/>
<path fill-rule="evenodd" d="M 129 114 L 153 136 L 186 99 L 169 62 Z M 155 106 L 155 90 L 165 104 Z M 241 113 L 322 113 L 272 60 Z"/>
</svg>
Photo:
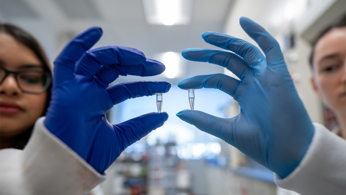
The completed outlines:
<svg viewBox="0 0 346 195">
<path fill-rule="evenodd" d="M 201 39 L 204 31 L 223 32 L 232 0 L 194 0 L 191 24 L 148 25 L 142 0 L 0 0 L 0 21 L 17 24 L 34 34 L 54 59 L 75 34 L 97 25 L 103 36 L 95 46 L 124 45 L 142 50 L 147 57 L 157 52 L 181 52 L 185 48 L 215 48 Z M 223 68 L 187 62 L 180 78 L 146 78 L 176 84 L 182 78 L 222 73 Z M 119 82 L 134 77 L 121 77 Z"/>
</svg>

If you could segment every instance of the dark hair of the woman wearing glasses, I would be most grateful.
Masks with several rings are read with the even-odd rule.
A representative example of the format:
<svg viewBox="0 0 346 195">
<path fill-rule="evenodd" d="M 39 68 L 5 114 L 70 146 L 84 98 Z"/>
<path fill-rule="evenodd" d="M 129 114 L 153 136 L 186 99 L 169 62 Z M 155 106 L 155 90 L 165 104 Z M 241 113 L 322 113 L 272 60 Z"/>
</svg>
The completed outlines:
<svg viewBox="0 0 346 195">
<path fill-rule="evenodd" d="M 40 46 L 40 44 L 36 41 L 36 39 L 33 36 L 31 36 L 28 32 L 24 31 L 23 29 L 17 26 L 14 26 L 11 24 L 1 24 L 1 23 L 0 23 L 0 33 L 6 33 L 8 35 L 11 35 L 17 41 L 19 41 L 20 43 L 24 44 L 29 49 L 31 49 L 35 53 L 36 57 L 42 63 L 44 71 L 46 71 L 52 76 L 52 71 L 49 68 L 49 62 L 46 57 L 46 54 L 44 50 L 42 49 L 42 47 Z M 47 100 L 46 100 L 45 110 L 42 116 L 46 114 L 47 108 L 49 106 L 49 101 L 51 100 L 51 88 L 52 88 L 52 83 L 51 85 L 49 85 L 47 89 Z M 22 150 L 24 146 L 27 144 L 31 136 L 32 130 L 33 130 L 33 126 L 28 128 L 24 133 L 21 133 L 20 135 L 18 135 L 16 137 L 13 148 Z"/>
</svg>

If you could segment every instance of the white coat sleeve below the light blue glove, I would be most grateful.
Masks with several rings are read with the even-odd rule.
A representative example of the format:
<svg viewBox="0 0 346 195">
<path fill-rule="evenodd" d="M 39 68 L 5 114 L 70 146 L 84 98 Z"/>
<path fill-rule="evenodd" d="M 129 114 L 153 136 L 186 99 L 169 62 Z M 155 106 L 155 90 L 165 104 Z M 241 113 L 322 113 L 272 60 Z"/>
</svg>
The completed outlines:
<svg viewBox="0 0 346 195">
<path fill-rule="evenodd" d="M 303 195 L 346 194 L 346 140 L 313 124 L 312 142 L 299 166 L 285 178 L 274 174 L 275 183 Z"/>
</svg>

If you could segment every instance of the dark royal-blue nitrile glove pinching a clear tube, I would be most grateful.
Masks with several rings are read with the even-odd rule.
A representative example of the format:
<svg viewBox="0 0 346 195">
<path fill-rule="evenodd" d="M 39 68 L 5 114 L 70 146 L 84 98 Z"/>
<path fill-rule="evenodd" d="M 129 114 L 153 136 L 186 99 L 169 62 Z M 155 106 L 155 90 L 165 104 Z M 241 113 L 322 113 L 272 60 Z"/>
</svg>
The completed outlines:
<svg viewBox="0 0 346 195">
<path fill-rule="evenodd" d="M 162 126 L 167 113 L 148 113 L 111 125 L 105 114 L 129 98 L 166 93 L 167 82 L 132 82 L 108 87 L 119 75 L 153 76 L 165 66 L 134 48 L 105 46 L 89 50 L 102 30 L 92 27 L 68 43 L 54 62 L 52 98 L 44 121 L 54 135 L 98 172 L 122 151 Z"/>
</svg>

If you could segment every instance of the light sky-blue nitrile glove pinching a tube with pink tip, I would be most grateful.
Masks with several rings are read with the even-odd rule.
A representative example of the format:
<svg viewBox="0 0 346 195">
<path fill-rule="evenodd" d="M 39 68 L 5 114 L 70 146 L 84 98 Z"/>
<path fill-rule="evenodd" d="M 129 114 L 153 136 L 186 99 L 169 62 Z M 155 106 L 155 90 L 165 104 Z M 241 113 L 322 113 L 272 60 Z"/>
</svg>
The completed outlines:
<svg viewBox="0 0 346 195">
<path fill-rule="evenodd" d="M 295 91 L 279 44 L 248 18 L 240 18 L 240 25 L 265 56 L 244 40 L 215 32 L 204 32 L 202 38 L 235 53 L 211 49 L 182 52 L 185 59 L 226 67 L 240 80 L 214 74 L 184 79 L 178 84 L 182 89 L 217 88 L 233 96 L 241 108 L 239 115 L 224 119 L 197 110 L 183 110 L 177 116 L 223 139 L 284 178 L 306 153 L 314 127 Z"/>
</svg>

